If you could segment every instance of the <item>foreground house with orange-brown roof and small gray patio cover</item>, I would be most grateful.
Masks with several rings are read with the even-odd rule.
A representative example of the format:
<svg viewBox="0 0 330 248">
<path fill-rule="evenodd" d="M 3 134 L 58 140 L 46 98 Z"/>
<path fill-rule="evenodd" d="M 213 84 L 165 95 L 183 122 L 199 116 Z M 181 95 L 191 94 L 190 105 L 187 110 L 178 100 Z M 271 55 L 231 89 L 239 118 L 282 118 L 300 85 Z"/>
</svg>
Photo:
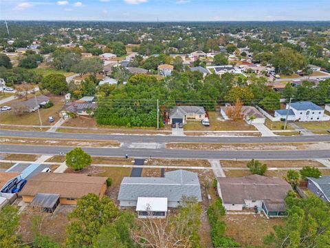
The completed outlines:
<svg viewBox="0 0 330 248">
<path fill-rule="evenodd" d="M 52 209 L 54 205 L 47 205 L 47 198 L 52 198 L 54 204 L 57 202 L 57 204 L 76 205 L 80 197 L 93 193 L 102 198 L 106 190 L 106 177 L 72 173 L 39 173 L 28 180 L 19 195 L 25 203 L 35 205 L 38 202 L 42 207 Z"/>
</svg>

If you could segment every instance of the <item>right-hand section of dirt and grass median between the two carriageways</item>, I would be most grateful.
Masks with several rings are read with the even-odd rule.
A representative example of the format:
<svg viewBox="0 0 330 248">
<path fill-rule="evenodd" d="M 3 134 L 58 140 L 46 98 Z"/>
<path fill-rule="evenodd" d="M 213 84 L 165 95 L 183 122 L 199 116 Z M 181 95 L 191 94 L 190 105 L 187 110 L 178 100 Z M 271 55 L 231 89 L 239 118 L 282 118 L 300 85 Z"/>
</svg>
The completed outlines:
<svg viewBox="0 0 330 248">
<path fill-rule="evenodd" d="M 330 143 L 168 143 L 168 149 L 208 149 L 208 150 L 293 150 L 293 149 L 330 149 Z"/>
</svg>

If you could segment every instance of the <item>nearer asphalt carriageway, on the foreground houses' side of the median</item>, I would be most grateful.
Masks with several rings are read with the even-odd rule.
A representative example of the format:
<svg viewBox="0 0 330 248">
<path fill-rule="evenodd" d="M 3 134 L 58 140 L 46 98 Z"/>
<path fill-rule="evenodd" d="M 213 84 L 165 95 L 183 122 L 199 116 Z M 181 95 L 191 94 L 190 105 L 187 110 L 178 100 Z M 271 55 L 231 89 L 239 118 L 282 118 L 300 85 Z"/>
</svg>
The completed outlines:
<svg viewBox="0 0 330 248">
<path fill-rule="evenodd" d="M 0 145 L 1 152 L 19 154 L 56 155 L 69 152 L 73 147 L 32 146 L 32 145 Z M 83 148 L 92 156 L 123 156 L 128 154 L 135 158 L 208 158 L 208 159 L 315 159 L 330 158 L 329 150 L 291 150 L 291 151 L 208 151 L 184 149 L 135 149 L 135 148 Z"/>
</svg>

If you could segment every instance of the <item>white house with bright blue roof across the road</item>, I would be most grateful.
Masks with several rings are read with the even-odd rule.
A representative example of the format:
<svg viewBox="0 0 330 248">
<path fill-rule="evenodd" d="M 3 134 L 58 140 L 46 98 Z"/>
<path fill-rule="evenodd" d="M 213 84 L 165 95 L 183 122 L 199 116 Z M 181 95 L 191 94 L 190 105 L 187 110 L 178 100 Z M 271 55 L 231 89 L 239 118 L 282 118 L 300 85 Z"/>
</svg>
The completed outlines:
<svg viewBox="0 0 330 248">
<path fill-rule="evenodd" d="M 300 101 L 296 103 L 287 103 L 286 110 L 289 109 L 290 118 L 288 121 L 329 121 L 330 116 L 325 114 L 325 110 L 310 101 Z M 286 110 L 275 110 L 278 116 L 286 118 Z M 292 110 L 292 111 L 291 111 Z M 293 117 L 293 114 L 295 117 Z"/>
</svg>

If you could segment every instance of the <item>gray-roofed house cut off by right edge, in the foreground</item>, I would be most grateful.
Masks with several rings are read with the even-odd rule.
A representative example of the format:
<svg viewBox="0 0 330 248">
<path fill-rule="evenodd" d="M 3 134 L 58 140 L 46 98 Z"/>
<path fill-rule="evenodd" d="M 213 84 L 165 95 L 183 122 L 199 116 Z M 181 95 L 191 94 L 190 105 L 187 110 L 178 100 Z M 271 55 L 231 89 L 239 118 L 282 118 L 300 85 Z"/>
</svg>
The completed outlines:
<svg viewBox="0 0 330 248">
<path fill-rule="evenodd" d="M 330 176 L 307 179 L 307 188 L 322 200 L 330 203 Z"/>
</svg>

